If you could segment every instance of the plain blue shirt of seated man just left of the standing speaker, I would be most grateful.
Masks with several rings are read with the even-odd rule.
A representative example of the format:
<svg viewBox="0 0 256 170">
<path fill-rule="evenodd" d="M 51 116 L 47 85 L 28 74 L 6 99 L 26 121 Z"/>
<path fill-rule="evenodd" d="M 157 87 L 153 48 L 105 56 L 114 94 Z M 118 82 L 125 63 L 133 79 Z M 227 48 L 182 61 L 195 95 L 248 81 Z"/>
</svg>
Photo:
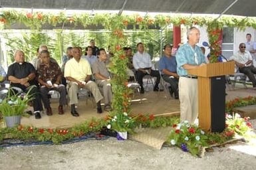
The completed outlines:
<svg viewBox="0 0 256 170">
<path fill-rule="evenodd" d="M 162 56 L 159 61 L 159 69 L 161 72 L 163 69 L 169 70 L 170 72 L 176 72 L 177 70 L 176 57 Z M 164 73 L 162 72 L 162 74 Z"/>
</svg>

